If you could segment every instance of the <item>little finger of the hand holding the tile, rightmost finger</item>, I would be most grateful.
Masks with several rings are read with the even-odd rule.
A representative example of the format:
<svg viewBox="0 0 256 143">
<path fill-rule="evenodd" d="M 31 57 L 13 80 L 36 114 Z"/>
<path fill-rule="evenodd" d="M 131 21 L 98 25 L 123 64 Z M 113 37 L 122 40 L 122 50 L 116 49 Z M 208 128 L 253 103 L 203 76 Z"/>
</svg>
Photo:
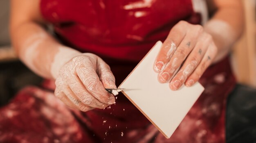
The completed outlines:
<svg viewBox="0 0 256 143">
<path fill-rule="evenodd" d="M 185 85 L 188 87 L 191 87 L 194 85 L 195 82 L 197 82 L 204 71 L 209 67 L 215 58 L 217 54 L 217 47 L 214 43 L 211 43 L 209 45 L 209 48 L 207 49 L 207 52 L 204 54 L 204 57 L 202 58 L 202 61 L 198 65 L 198 67 L 195 69 L 195 71 L 189 76 L 189 78 L 186 80 Z"/>
</svg>

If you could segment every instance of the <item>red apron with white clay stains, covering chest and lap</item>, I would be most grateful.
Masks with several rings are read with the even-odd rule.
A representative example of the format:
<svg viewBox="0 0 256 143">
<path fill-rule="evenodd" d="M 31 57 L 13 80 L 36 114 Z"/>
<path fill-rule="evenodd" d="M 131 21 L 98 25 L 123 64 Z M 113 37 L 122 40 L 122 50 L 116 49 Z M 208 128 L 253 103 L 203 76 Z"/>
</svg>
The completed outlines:
<svg viewBox="0 0 256 143">
<path fill-rule="evenodd" d="M 40 9 L 65 45 L 103 58 L 117 85 L 173 25 L 201 21 L 191 0 L 41 0 Z M 200 83 L 204 93 L 165 139 L 122 94 L 104 110 L 73 111 L 46 80 L 42 87 L 22 89 L 0 108 L 0 142 L 223 143 L 226 97 L 236 83 L 228 58 L 211 65 Z"/>
</svg>

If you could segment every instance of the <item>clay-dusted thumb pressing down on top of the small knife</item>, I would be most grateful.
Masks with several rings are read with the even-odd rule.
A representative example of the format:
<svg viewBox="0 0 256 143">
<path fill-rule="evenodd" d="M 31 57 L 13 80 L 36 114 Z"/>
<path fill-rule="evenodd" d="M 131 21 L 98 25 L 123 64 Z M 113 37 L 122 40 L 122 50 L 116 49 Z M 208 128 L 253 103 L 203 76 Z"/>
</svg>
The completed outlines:
<svg viewBox="0 0 256 143">
<path fill-rule="evenodd" d="M 97 67 L 97 74 L 103 86 L 106 89 L 116 89 L 117 86 L 115 85 L 115 76 L 111 72 L 109 65 L 106 64 L 101 58 L 98 58 Z"/>
</svg>

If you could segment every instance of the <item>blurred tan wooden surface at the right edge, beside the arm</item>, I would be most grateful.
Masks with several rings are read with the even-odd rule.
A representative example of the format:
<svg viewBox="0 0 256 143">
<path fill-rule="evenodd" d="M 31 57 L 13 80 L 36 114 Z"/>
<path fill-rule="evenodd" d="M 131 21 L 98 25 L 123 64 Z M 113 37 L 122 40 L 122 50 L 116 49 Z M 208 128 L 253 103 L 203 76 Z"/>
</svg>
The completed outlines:
<svg viewBox="0 0 256 143">
<path fill-rule="evenodd" d="M 245 31 L 234 47 L 234 65 L 238 82 L 256 87 L 256 0 L 243 0 Z"/>
</svg>

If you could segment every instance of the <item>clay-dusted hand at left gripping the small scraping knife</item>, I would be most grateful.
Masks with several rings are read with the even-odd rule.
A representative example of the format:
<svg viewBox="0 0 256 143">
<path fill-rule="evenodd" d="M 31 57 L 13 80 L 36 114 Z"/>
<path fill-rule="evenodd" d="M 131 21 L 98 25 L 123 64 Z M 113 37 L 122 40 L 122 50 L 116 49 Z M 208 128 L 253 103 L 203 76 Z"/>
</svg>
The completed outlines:
<svg viewBox="0 0 256 143">
<path fill-rule="evenodd" d="M 61 67 L 54 94 L 67 106 L 81 111 L 105 108 L 115 97 L 105 88 L 117 88 L 110 67 L 90 53 L 75 56 Z"/>
</svg>

